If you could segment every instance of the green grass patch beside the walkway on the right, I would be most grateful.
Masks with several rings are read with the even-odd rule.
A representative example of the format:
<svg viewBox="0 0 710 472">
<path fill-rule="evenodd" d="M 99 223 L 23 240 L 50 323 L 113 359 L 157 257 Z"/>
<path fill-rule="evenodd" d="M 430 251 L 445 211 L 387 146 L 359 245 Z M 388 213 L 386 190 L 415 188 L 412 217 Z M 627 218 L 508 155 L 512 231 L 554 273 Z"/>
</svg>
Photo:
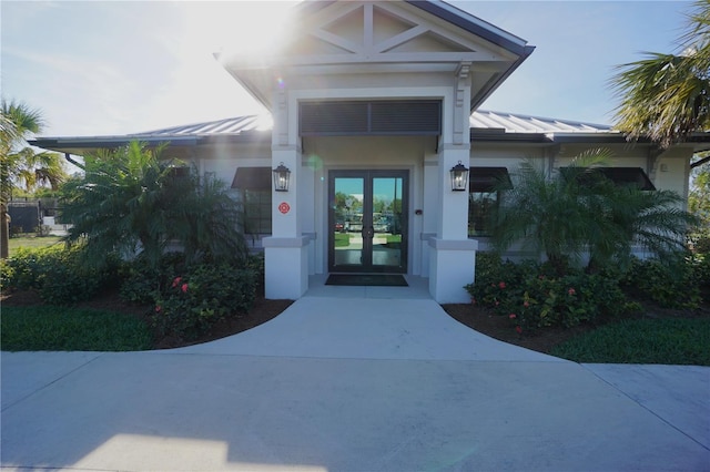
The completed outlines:
<svg viewBox="0 0 710 472">
<path fill-rule="evenodd" d="M 575 362 L 710 366 L 710 319 L 632 319 L 602 326 L 556 346 Z"/>
</svg>

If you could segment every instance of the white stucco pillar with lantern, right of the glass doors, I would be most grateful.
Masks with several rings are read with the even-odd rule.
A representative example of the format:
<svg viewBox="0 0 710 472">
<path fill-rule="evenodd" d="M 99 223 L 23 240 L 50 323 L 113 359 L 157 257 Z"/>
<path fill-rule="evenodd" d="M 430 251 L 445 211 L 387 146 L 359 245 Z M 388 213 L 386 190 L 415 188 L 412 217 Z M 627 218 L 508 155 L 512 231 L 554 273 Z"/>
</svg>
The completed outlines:
<svg viewBox="0 0 710 472">
<path fill-rule="evenodd" d="M 453 100 L 444 103 L 450 122 L 439 145 L 437 234 L 429 238 L 429 293 L 439 304 L 468 301 L 464 286 L 471 284 L 475 275 L 478 242 L 468 239 L 468 192 L 452 191 L 450 181 L 452 167 L 470 163 L 469 102 L 469 64 L 462 64 Z"/>
</svg>

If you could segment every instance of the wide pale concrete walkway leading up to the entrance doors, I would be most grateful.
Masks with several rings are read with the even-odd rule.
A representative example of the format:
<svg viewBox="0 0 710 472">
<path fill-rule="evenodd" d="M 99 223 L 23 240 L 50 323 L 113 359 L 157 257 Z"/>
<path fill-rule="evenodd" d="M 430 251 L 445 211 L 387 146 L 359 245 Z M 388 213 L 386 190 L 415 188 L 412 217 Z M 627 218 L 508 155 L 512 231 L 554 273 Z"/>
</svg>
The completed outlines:
<svg viewBox="0 0 710 472">
<path fill-rule="evenodd" d="M 323 290 L 190 348 L 2 352 L 2 470 L 710 471 L 710 368 L 580 366 L 412 291 Z"/>
</svg>

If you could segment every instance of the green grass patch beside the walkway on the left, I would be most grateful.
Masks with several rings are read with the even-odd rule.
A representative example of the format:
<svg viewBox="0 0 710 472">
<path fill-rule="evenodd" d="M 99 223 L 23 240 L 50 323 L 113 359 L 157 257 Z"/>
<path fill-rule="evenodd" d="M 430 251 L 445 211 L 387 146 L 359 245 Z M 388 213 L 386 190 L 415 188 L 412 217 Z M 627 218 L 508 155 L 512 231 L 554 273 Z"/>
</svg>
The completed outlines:
<svg viewBox="0 0 710 472">
<path fill-rule="evenodd" d="M 2 307 L 0 343 L 6 351 L 133 351 L 152 347 L 136 317 L 71 307 Z"/>
</svg>

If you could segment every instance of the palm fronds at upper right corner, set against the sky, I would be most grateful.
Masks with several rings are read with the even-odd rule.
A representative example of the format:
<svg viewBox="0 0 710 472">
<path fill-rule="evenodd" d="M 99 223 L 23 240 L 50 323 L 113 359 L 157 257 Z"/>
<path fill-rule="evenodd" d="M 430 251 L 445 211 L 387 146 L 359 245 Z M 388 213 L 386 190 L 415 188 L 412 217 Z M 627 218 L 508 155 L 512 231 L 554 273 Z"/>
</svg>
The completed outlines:
<svg viewBox="0 0 710 472">
<path fill-rule="evenodd" d="M 647 53 L 611 78 L 621 99 L 616 127 L 629 138 L 648 136 L 667 147 L 710 130 L 710 0 L 697 1 L 689 20 L 679 54 Z"/>
</svg>

